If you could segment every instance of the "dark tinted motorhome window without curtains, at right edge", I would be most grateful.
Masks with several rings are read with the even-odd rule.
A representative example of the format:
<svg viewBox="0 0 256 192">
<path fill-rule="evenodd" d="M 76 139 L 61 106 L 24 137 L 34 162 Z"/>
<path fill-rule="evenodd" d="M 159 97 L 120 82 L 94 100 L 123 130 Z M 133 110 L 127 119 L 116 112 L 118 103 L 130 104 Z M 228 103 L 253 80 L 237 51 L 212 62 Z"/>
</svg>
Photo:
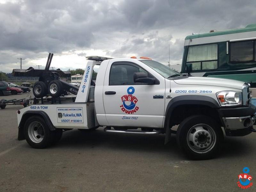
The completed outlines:
<svg viewBox="0 0 256 192">
<path fill-rule="evenodd" d="M 230 62 L 252 62 L 255 60 L 253 41 L 230 42 Z"/>
</svg>

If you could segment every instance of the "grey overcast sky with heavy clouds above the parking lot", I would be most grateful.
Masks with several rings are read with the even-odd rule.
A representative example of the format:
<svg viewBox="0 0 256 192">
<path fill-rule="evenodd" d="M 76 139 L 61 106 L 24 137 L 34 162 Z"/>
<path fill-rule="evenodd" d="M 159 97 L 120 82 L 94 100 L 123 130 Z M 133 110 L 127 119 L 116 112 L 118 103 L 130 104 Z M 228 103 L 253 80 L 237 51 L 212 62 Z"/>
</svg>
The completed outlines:
<svg viewBox="0 0 256 192">
<path fill-rule="evenodd" d="M 184 38 L 256 23 L 250 0 L 0 0 L 0 71 L 84 68 L 85 56 L 181 63 Z"/>
</svg>

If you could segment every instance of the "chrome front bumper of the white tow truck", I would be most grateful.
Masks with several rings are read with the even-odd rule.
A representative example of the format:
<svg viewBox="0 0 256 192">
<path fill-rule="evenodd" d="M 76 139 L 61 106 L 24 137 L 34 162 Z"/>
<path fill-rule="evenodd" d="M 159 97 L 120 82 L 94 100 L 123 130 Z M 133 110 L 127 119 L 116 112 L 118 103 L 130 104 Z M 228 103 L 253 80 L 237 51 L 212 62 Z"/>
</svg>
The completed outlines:
<svg viewBox="0 0 256 192">
<path fill-rule="evenodd" d="M 256 113 L 253 116 L 223 117 L 222 119 L 227 130 L 245 129 L 255 123 Z"/>
</svg>

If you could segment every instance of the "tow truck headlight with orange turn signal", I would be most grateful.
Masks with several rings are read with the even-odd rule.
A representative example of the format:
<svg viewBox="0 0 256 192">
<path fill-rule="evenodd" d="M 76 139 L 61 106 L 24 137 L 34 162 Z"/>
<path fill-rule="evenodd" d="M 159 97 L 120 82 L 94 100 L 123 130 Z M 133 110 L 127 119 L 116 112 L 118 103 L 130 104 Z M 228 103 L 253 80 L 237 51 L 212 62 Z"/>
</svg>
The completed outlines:
<svg viewBox="0 0 256 192">
<path fill-rule="evenodd" d="M 221 91 L 217 97 L 221 106 L 242 105 L 242 92 Z"/>
</svg>

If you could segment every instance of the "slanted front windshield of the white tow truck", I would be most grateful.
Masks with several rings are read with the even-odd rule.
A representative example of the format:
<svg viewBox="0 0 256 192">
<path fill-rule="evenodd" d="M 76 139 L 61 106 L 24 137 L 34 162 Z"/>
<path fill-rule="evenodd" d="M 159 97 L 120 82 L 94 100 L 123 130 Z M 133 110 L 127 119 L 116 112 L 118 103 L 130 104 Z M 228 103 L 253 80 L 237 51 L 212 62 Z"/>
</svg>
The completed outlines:
<svg viewBox="0 0 256 192">
<path fill-rule="evenodd" d="M 179 72 L 174 71 L 167 67 L 166 65 L 153 61 L 153 60 L 140 60 L 142 63 L 145 63 L 152 69 L 154 69 L 157 73 L 164 76 L 165 78 L 177 77 L 182 76 Z"/>
</svg>

